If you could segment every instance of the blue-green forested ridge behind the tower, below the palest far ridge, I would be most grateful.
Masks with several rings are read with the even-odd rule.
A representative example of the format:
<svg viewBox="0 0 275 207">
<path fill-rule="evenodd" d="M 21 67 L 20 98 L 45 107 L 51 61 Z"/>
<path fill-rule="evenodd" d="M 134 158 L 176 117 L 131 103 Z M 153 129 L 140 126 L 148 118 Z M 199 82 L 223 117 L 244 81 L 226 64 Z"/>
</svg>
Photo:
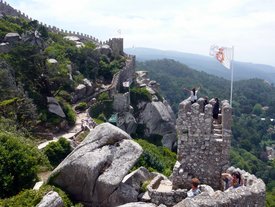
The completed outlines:
<svg viewBox="0 0 275 207">
<path fill-rule="evenodd" d="M 171 59 L 148 60 L 137 62 L 136 70 L 149 72 L 151 79 L 160 83 L 161 93 L 177 111 L 180 101 L 187 98 L 189 93 L 183 90 L 200 86 L 199 97 L 219 97 L 229 99 L 230 81 L 207 74 L 203 71 L 190 69 L 188 66 Z M 225 70 L 225 69 L 224 69 Z M 275 116 L 275 88 L 262 79 L 236 81 L 233 90 L 234 114 L 251 114 L 254 106 L 268 106 L 265 116 Z"/>
</svg>

